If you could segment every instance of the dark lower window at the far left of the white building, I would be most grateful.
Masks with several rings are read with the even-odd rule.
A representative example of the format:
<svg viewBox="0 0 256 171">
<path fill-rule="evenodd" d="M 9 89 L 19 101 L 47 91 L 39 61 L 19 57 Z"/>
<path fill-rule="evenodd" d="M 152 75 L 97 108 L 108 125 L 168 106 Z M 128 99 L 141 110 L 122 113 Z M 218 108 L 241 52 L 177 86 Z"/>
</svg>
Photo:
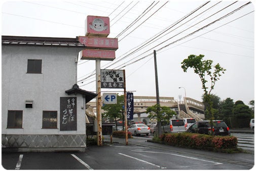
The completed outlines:
<svg viewBox="0 0 256 171">
<path fill-rule="evenodd" d="M 7 128 L 22 128 L 22 110 L 8 110 Z"/>
</svg>

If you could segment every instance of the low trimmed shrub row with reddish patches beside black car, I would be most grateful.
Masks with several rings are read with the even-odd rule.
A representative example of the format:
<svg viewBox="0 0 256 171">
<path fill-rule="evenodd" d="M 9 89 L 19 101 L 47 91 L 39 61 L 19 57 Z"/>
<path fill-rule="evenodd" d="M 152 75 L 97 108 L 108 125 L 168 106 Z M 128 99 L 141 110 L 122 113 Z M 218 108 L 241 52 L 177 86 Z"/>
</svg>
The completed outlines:
<svg viewBox="0 0 256 171">
<path fill-rule="evenodd" d="M 214 149 L 237 148 L 237 138 L 233 136 L 210 136 L 193 133 L 163 134 L 161 141 L 180 147 L 209 147 Z"/>
</svg>

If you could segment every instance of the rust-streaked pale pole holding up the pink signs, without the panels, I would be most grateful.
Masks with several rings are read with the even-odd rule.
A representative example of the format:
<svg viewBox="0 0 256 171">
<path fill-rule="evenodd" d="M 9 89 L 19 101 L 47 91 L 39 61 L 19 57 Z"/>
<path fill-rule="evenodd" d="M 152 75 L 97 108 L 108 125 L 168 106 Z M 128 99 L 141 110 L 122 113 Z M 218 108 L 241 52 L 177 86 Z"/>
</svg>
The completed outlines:
<svg viewBox="0 0 256 171">
<path fill-rule="evenodd" d="M 96 59 L 96 110 L 97 110 L 97 145 L 102 146 L 102 119 L 101 119 L 101 80 L 100 60 Z"/>
</svg>

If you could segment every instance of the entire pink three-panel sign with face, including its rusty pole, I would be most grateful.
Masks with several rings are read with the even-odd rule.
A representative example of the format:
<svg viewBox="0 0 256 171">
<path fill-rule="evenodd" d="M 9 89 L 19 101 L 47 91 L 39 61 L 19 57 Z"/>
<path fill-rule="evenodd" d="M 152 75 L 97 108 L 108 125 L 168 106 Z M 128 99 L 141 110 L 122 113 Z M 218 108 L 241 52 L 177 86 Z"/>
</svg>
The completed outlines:
<svg viewBox="0 0 256 171">
<path fill-rule="evenodd" d="M 86 46 L 86 49 L 81 53 L 81 59 L 96 60 L 97 145 L 102 146 L 100 61 L 113 61 L 116 58 L 115 51 L 118 49 L 118 39 L 106 38 L 110 33 L 108 17 L 87 16 L 85 23 L 86 36 L 79 36 L 78 40 Z"/>
</svg>

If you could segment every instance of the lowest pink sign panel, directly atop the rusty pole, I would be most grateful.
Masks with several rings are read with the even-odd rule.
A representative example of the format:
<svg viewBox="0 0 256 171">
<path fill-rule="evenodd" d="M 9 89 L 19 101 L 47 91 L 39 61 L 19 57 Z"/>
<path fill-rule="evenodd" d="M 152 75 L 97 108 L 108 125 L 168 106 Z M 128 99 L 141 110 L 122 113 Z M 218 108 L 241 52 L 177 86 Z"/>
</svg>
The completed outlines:
<svg viewBox="0 0 256 171">
<path fill-rule="evenodd" d="M 96 50 L 96 49 L 85 49 L 82 51 L 81 59 L 100 59 L 106 61 L 113 61 L 116 58 L 116 53 L 113 50 Z"/>
</svg>

